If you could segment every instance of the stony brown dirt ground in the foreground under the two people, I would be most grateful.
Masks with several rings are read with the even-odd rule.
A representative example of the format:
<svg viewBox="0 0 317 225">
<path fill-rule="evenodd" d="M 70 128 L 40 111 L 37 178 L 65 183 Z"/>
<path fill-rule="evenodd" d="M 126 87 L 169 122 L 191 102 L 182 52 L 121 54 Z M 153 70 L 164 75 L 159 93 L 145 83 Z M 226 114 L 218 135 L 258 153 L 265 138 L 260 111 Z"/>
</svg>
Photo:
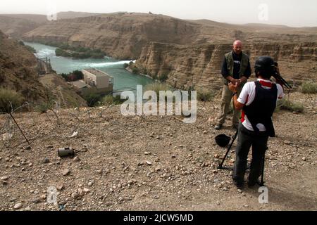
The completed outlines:
<svg viewBox="0 0 317 225">
<path fill-rule="evenodd" d="M 52 112 L 15 113 L 30 145 L 1 115 L 0 210 L 317 210 L 317 95 L 287 98 L 305 111 L 274 115 L 267 204 L 259 203 L 259 187 L 238 191 L 231 172 L 217 169 L 226 149 L 214 137 L 235 133 L 230 120 L 213 129 L 217 99 L 198 104 L 194 124 L 123 117 L 120 105 L 59 110 L 58 120 Z M 225 165 L 234 162 L 235 144 Z M 64 147 L 76 157 L 59 158 Z M 47 203 L 51 186 L 57 205 Z"/>
</svg>

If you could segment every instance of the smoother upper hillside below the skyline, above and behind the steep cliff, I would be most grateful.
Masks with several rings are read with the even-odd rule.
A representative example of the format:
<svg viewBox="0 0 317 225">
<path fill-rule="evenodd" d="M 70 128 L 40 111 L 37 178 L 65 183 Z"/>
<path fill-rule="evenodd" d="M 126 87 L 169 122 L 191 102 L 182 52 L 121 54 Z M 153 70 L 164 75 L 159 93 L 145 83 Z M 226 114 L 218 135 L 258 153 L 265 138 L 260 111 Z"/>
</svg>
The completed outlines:
<svg viewBox="0 0 317 225">
<path fill-rule="evenodd" d="M 242 41 L 316 41 L 317 29 L 230 25 L 210 20 L 180 20 L 166 15 L 110 13 L 46 23 L 23 36 L 27 41 L 68 43 L 101 49 L 114 58 L 139 58 L 151 41 L 197 45 Z"/>
</svg>

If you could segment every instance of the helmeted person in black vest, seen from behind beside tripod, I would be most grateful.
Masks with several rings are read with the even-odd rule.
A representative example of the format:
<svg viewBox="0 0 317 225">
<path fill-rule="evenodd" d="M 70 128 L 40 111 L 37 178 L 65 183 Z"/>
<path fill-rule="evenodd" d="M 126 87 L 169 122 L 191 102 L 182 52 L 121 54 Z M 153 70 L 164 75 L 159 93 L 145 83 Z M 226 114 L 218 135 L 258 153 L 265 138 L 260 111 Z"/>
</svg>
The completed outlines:
<svg viewBox="0 0 317 225">
<path fill-rule="evenodd" d="M 275 136 L 272 115 L 276 102 L 283 98 L 280 84 L 273 84 L 271 76 L 276 71 L 271 57 L 261 56 L 256 60 L 255 72 L 259 79 L 244 85 L 240 96 L 237 86 L 229 84 L 237 110 L 242 110 L 242 120 L 238 128 L 238 143 L 232 179 L 237 188 L 243 188 L 244 174 L 247 170 L 247 156 L 252 146 L 252 162 L 249 174 L 249 187 L 254 186 L 261 175 L 263 158 L 266 153 L 268 137 Z"/>
</svg>

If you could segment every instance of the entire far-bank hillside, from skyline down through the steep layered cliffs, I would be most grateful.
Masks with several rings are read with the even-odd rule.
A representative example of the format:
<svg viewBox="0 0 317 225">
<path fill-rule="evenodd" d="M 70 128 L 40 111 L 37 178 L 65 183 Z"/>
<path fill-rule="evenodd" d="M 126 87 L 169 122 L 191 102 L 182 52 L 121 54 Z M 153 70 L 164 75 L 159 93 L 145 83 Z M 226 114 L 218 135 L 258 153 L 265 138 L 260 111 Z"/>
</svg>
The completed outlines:
<svg viewBox="0 0 317 225">
<path fill-rule="evenodd" d="M 230 51 L 234 39 L 241 39 L 251 63 L 257 56 L 270 55 L 280 62 L 285 78 L 295 82 L 317 79 L 317 27 L 232 25 L 145 13 L 68 12 L 60 18 L 30 30 L 23 39 L 68 43 L 101 49 L 113 58 L 139 59 L 140 71 L 152 77 L 166 74 L 168 83 L 179 88 L 219 87 L 223 54 Z"/>
</svg>

